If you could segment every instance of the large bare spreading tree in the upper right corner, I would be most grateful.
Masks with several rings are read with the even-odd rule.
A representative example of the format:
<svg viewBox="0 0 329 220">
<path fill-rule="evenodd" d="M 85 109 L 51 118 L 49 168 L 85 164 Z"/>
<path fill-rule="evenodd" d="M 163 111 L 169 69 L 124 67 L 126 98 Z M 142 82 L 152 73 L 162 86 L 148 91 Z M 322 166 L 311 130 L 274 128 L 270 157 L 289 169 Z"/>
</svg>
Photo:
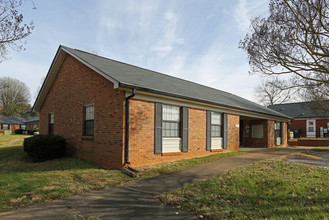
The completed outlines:
<svg viewBox="0 0 329 220">
<path fill-rule="evenodd" d="M 270 0 L 270 15 L 253 18 L 251 33 L 240 41 L 250 73 L 288 74 L 293 86 L 328 84 L 328 5 L 328 0 Z"/>
</svg>

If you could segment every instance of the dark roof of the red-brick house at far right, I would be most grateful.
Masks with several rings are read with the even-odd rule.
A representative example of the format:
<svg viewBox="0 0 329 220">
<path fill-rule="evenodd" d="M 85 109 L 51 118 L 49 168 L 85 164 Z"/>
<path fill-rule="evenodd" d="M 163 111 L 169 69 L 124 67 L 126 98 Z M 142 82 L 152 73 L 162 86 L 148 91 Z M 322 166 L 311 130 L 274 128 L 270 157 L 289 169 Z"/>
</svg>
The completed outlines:
<svg viewBox="0 0 329 220">
<path fill-rule="evenodd" d="M 313 109 L 312 102 L 277 104 L 270 105 L 268 108 L 293 118 L 317 118 L 328 116 L 323 111 Z"/>
</svg>

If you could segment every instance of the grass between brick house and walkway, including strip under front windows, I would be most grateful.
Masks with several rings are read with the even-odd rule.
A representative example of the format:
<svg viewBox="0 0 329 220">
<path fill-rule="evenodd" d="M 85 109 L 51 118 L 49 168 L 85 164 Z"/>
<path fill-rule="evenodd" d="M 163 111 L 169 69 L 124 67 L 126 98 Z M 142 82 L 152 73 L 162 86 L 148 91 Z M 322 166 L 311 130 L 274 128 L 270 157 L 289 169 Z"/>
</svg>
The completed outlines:
<svg viewBox="0 0 329 220">
<path fill-rule="evenodd" d="M 119 170 L 106 170 L 94 163 L 72 157 L 41 163 L 27 162 L 22 147 L 25 137 L 29 136 L 0 135 L 0 212 L 134 180 Z M 217 154 L 151 166 L 141 170 L 141 178 L 235 154 Z"/>
</svg>

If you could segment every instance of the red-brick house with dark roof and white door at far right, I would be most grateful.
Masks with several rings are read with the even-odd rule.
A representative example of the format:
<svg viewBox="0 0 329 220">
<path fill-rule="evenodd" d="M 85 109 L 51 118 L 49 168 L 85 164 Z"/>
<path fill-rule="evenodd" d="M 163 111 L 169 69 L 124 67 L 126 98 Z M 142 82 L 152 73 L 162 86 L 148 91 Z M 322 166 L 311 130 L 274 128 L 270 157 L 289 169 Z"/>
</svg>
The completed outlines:
<svg viewBox="0 0 329 220">
<path fill-rule="evenodd" d="M 294 118 L 290 130 L 300 129 L 301 137 L 329 137 L 329 116 L 312 109 L 311 102 L 270 105 L 268 108 Z"/>
</svg>

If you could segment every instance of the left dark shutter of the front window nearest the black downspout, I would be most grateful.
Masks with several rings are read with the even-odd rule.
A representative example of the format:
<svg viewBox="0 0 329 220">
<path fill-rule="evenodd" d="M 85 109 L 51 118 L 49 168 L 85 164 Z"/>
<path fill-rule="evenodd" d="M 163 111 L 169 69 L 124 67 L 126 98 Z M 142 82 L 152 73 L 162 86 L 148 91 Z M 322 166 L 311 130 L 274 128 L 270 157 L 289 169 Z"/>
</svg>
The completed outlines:
<svg viewBox="0 0 329 220">
<path fill-rule="evenodd" d="M 162 153 L 162 104 L 155 103 L 154 153 Z"/>
</svg>

